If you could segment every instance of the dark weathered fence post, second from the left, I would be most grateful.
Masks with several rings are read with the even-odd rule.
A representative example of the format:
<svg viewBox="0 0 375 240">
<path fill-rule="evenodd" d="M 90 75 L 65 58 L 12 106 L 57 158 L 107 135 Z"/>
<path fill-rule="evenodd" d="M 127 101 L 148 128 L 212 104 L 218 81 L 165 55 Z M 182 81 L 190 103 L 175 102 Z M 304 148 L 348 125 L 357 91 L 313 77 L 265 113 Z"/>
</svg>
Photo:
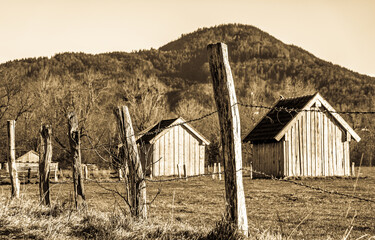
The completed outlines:
<svg viewBox="0 0 375 240">
<path fill-rule="evenodd" d="M 52 128 L 42 125 L 40 128 L 39 149 L 39 194 L 40 202 L 50 206 L 49 176 L 50 163 L 52 161 Z"/>
</svg>

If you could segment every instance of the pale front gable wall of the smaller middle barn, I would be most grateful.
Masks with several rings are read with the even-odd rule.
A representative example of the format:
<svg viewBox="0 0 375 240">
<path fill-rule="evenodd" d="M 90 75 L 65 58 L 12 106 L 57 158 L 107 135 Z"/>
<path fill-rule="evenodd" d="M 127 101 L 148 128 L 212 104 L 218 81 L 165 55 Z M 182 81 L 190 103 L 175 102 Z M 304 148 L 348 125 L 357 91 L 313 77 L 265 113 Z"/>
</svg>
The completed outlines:
<svg viewBox="0 0 375 240">
<path fill-rule="evenodd" d="M 158 136 L 153 144 L 153 176 L 204 173 L 205 146 L 183 126 L 175 126 Z"/>
</svg>

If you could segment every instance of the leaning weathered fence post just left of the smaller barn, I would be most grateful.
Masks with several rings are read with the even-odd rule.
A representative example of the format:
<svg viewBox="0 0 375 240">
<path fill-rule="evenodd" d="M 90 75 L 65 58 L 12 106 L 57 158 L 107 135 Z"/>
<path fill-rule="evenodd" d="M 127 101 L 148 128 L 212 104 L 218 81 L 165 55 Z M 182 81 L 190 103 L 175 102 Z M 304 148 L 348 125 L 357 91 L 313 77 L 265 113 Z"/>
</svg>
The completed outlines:
<svg viewBox="0 0 375 240">
<path fill-rule="evenodd" d="M 119 106 L 115 111 L 123 151 L 124 161 L 128 161 L 128 179 L 130 189 L 130 205 L 133 215 L 139 218 L 147 218 L 146 181 L 143 176 L 141 159 L 139 157 L 134 130 L 127 106 Z M 125 163 L 124 163 L 125 164 Z"/>
</svg>

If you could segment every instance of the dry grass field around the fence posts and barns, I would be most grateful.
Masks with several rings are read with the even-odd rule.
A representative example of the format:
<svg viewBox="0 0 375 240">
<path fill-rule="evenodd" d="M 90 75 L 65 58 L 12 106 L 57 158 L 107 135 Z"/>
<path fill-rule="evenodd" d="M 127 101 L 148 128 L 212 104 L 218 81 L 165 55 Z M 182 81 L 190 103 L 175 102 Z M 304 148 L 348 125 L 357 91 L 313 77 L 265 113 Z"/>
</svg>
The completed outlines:
<svg viewBox="0 0 375 240">
<path fill-rule="evenodd" d="M 375 200 L 375 168 L 356 179 L 298 179 L 298 183 Z M 244 187 L 250 239 L 375 238 L 375 203 L 322 193 L 290 182 L 250 179 Z M 38 206 L 38 185 L 21 185 L 22 197 L 10 201 L 10 185 L 0 186 L 0 238 L 15 239 L 222 239 L 224 181 L 211 177 L 148 182 L 151 201 L 146 222 L 126 216 L 126 205 L 112 191 L 119 182 L 87 181 L 87 208 L 72 210 L 72 184 L 52 184 L 52 208 Z M 222 229 L 221 231 L 225 231 Z M 215 235 L 216 234 L 216 235 Z"/>
</svg>

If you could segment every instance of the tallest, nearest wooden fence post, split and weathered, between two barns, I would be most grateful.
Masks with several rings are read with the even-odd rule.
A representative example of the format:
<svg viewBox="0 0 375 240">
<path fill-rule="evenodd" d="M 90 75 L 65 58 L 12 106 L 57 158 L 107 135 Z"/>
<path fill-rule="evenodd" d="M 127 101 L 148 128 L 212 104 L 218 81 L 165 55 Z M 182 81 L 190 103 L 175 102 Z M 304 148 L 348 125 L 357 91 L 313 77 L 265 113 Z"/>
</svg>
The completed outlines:
<svg viewBox="0 0 375 240">
<path fill-rule="evenodd" d="M 245 236 L 248 236 L 242 181 L 240 115 L 228 61 L 228 49 L 224 43 L 217 43 L 208 45 L 207 51 L 220 122 L 224 159 L 226 218 L 229 222 L 236 224 Z"/>
</svg>

